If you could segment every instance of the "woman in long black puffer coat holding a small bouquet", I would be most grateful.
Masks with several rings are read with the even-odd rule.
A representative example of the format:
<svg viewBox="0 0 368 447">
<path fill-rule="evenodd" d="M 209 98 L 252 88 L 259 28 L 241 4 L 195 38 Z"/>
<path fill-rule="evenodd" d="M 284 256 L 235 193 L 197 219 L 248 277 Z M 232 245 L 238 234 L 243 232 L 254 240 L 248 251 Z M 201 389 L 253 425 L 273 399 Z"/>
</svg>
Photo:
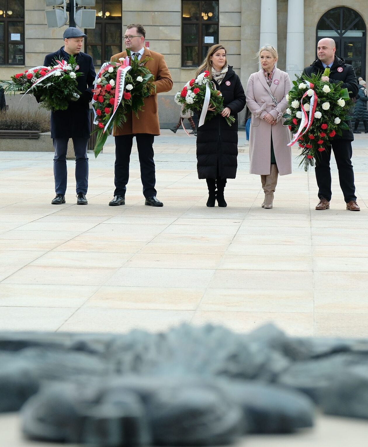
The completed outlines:
<svg viewBox="0 0 368 447">
<path fill-rule="evenodd" d="M 245 94 L 239 76 L 227 65 L 226 50 L 213 45 L 196 72 L 196 77 L 210 72 L 210 79 L 223 96 L 224 109 L 197 129 L 198 178 L 205 178 L 208 186 L 207 207 L 226 207 L 223 197 L 227 178 L 235 178 L 238 156 L 238 113 L 245 107 Z M 210 107 L 208 110 L 212 110 Z M 236 121 L 229 126 L 224 117 L 232 115 Z M 217 191 L 216 191 L 217 187 Z"/>
</svg>

